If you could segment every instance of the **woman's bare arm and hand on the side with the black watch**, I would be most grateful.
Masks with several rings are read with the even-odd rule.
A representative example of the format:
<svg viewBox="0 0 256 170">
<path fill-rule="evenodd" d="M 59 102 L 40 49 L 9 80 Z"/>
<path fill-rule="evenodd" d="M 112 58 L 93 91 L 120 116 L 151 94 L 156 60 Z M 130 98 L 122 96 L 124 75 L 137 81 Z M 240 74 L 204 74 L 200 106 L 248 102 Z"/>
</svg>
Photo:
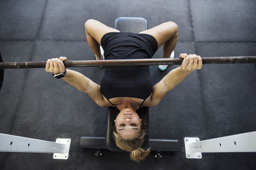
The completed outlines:
<svg viewBox="0 0 256 170">
<path fill-rule="evenodd" d="M 66 69 L 63 64 L 63 60 L 67 60 L 67 58 L 60 57 L 60 59 L 47 60 L 45 71 L 57 74 L 63 73 L 66 70 L 67 73 L 66 76 L 62 78 L 63 80 L 67 81 L 67 83 L 73 87 L 76 87 L 76 89 L 80 90 L 81 92 L 87 93 L 99 106 L 105 107 L 106 103 L 100 92 L 100 86 L 83 74 Z"/>
</svg>

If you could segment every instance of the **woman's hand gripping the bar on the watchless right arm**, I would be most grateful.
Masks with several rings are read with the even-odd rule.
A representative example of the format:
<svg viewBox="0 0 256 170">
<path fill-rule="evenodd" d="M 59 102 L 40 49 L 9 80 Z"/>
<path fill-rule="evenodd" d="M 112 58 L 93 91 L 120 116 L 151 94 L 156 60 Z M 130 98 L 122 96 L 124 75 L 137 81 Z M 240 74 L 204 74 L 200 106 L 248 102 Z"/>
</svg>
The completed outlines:
<svg viewBox="0 0 256 170">
<path fill-rule="evenodd" d="M 180 59 L 183 59 L 180 65 L 182 70 L 194 71 L 195 69 L 201 69 L 203 66 L 200 55 L 180 53 Z"/>
</svg>

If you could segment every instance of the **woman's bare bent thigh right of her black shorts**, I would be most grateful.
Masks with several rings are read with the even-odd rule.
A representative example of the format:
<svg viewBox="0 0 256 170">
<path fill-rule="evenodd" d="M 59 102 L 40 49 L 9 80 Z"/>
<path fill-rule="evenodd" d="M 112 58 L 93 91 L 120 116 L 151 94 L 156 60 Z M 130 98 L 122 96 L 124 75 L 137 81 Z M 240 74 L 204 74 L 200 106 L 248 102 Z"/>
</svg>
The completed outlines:
<svg viewBox="0 0 256 170">
<path fill-rule="evenodd" d="M 175 22 L 164 22 L 156 27 L 152 27 L 151 29 L 140 32 L 140 34 L 150 34 L 153 36 L 157 41 L 158 48 L 177 33 L 178 25 L 175 24 Z"/>
</svg>

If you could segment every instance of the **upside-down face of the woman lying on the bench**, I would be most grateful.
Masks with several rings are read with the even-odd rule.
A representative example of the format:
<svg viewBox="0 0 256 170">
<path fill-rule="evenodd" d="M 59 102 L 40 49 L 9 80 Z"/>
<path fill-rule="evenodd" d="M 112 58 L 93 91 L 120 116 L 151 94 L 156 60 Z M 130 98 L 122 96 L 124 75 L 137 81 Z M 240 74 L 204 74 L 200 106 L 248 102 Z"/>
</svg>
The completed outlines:
<svg viewBox="0 0 256 170">
<path fill-rule="evenodd" d="M 141 130 L 141 119 L 135 111 L 127 108 L 117 115 L 116 132 L 124 139 L 137 138 Z"/>
</svg>

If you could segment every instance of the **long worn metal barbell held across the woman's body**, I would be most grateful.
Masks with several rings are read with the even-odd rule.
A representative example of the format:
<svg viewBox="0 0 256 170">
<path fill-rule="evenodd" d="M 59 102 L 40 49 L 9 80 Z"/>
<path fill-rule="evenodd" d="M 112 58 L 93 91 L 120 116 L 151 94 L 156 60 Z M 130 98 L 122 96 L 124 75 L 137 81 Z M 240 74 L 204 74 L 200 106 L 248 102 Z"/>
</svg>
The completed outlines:
<svg viewBox="0 0 256 170">
<path fill-rule="evenodd" d="M 67 60 L 65 67 L 96 66 L 141 66 L 141 65 L 177 65 L 183 59 L 120 59 L 120 60 Z M 240 64 L 256 63 L 256 56 L 202 57 L 203 64 Z M 4 69 L 44 68 L 46 61 L 3 62 L 0 53 L 0 90 L 3 84 Z"/>
</svg>

